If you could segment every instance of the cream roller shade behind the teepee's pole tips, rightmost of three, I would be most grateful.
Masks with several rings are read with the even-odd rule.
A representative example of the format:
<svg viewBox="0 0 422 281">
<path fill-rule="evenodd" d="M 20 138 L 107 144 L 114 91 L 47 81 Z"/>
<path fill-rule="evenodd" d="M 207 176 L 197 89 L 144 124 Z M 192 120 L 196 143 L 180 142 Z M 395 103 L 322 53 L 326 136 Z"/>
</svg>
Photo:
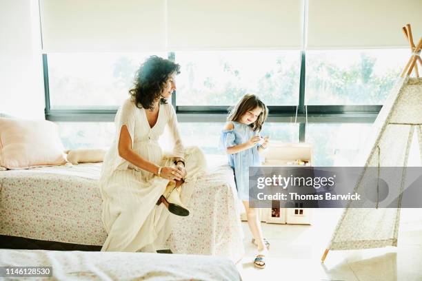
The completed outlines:
<svg viewBox="0 0 422 281">
<path fill-rule="evenodd" d="M 422 0 L 308 0 L 309 49 L 408 47 L 422 36 Z"/>
</svg>

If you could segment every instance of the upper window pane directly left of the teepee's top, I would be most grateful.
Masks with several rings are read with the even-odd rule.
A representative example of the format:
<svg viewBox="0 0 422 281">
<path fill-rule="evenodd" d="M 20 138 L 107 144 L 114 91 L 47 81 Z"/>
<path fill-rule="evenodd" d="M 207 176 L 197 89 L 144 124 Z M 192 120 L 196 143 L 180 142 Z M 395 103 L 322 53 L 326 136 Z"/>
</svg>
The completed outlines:
<svg viewBox="0 0 422 281">
<path fill-rule="evenodd" d="M 306 52 L 306 104 L 382 105 L 408 50 L 330 50 Z"/>
</svg>

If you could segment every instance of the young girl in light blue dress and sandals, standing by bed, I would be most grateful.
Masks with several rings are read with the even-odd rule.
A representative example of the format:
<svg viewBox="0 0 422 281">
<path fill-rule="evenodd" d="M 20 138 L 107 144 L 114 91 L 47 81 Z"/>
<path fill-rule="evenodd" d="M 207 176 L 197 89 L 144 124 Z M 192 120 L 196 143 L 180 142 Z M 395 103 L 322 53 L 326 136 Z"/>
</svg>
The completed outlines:
<svg viewBox="0 0 422 281">
<path fill-rule="evenodd" d="M 221 135 L 221 146 L 228 154 L 229 165 L 234 169 L 234 178 L 239 198 L 245 206 L 252 243 L 258 247 L 254 266 L 265 267 L 265 254 L 270 243 L 262 237 L 258 209 L 249 207 L 249 167 L 260 166 L 259 151 L 268 145 L 268 137 L 259 136 L 267 118 L 268 108 L 254 94 L 246 94 L 230 112 Z"/>
</svg>

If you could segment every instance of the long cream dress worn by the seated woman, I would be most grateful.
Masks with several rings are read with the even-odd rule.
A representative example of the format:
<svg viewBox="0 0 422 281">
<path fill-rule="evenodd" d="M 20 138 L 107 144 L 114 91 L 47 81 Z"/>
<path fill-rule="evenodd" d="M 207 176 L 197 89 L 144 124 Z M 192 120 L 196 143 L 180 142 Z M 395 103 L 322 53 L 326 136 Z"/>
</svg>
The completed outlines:
<svg viewBox="0 0 422 281">
<path fill-rule="evenodd" d="M 186 182 L 203 174 L 205 158 L 200 149 L 183 147 L 176 113 L 170 104 L 159 105 L 157 123 L 151 128 L 145 110 L 128 98 L 117 111 L 114 123 L 114 143 L 104 158 L 100 178 L 102 219 L 108 233 L 101 250 L 155 251 L 165 243 L 172 229 L 173 216 L 169 216 L 163 204 L 156 205 L 168 180 L 139 169 L 119 156 L 121 127 L 128 127 L 134 152 L 152 163 L 168 167 L 173 165 L 173 157 L 185 158 Z M 174 139 L 172 154 L 168 155 L 163 154 L 158 143 L 166 125 Z M 183 192 L 188 191 L 182 186 Z"/>
</svg>

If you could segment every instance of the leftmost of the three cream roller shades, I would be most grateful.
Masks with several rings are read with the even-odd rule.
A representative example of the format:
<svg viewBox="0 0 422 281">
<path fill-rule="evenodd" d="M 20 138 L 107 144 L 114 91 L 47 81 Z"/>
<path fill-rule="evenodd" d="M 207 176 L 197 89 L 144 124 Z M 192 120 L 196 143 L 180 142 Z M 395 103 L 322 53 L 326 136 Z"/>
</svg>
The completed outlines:
<svg viewBox="0 0 422 281">
<path fill-rule="evenodd" d="M 43 50 L 165 50 L 165 0 L 40 0 Z"/>
</svg>

